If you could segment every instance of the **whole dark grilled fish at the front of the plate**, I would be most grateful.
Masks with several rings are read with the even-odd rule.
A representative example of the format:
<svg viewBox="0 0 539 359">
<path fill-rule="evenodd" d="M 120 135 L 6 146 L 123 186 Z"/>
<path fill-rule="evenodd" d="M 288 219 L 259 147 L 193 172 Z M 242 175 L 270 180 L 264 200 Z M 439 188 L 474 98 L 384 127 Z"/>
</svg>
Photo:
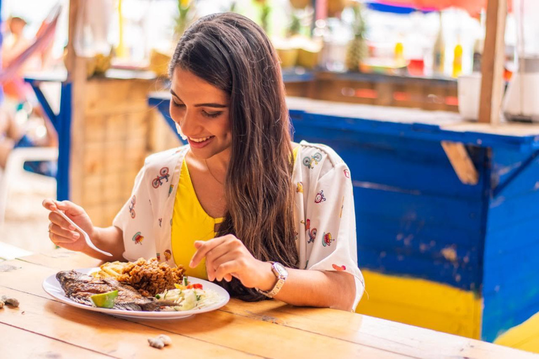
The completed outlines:
<svg viewBox="0 0 539 359">
<path fill-rule="evenodd" d="M 118 290 L 113 309 L 124 311 L 159 311 L 161 306 L 178 305 L 173 302 L 157 302 L 152 297 L 142 295 L 131 285 L 119 283 L 114 278 L 93 278 L 77 271 L 60 271 L 56 279 L 69 299 L 80 304 L 92 306 L 90 297 Z"/>
</svg>

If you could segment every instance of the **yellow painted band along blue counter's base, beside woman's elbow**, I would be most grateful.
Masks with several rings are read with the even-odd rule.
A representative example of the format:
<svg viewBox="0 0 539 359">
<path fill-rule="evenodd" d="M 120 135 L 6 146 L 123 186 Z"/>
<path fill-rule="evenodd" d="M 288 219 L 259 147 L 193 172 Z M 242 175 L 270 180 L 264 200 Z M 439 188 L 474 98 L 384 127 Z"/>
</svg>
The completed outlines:
<svg viewBox="0 0 539 359">
<path fill-rule="evenodd" d="M 482 300 L 474 292 L 417 278 L 362 270 L 357 313 L 479 339 Z"/>
</svg>

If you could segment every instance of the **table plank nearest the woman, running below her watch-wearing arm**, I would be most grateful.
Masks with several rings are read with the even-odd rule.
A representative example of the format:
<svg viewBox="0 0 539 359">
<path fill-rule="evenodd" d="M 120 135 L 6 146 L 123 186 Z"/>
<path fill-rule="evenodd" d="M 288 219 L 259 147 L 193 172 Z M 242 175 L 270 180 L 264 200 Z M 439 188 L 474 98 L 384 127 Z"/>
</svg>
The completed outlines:
<svg viewBox="0 0 539 359">
<path fill-rule="evenodd" d="M 296 308 L 282 302 L 261 303 L 230 302 L 225 311 L 237 315 L 259 318 L 278 325 L 324 334 L 357 344 L 387 348 L 418 358 L 519 358 L 528 353 L 515 353 L 511 348 L 459 337 L 413 325 L 392 322 L 370 316 L 349 316 L 344 311 L 331 309 Z M 316 311 L 316 316 L 313 315 Z M 357 327 L 357 331 L 350 330 Z M 516 355 L 516 356 L 515 356 Z"/>
</svg>

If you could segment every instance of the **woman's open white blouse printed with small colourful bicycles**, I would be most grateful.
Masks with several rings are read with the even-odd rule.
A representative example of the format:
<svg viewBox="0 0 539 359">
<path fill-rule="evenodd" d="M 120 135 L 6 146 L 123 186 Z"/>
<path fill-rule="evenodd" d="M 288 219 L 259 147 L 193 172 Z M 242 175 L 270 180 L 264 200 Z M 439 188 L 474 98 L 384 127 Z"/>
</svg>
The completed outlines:
<svg viewBox="0 0 539 359">
<path fill-rule="evenodd" d="M 113 222 L 124 232 L 125 259 L 157 257 L 175 266 L 172 214 L 180 168 L 188 150 L 189 146 L 184 146 L 146 158 L 135 178 L 131 197 Z M 350 170 L 330 147 L 302 141 L 292 180 L 298 268 L 352 274 L 356 284 L 355 309 L 364 292 L 364 278 L 357 266 Z"/>
</svg>

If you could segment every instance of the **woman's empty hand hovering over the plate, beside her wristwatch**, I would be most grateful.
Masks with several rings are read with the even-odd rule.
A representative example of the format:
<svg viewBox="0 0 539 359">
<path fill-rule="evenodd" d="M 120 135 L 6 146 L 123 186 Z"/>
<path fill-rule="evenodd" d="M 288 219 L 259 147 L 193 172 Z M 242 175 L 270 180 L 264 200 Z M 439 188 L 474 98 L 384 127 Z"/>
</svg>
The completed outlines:
<svg viewBox="0 0 539 359">
<path fill-rule="evenodd" d="M 271 264 L 255 259 L 238 238 L 227 234 L 209 241 L 196 241 L 197 252 L 193 255 L 189 266 L 199 265 L 206 257 L 206 271 L 209 280 L 227 280 L 236 277 L 245 287 L 266 287 L 266 282 L 275 276 Z M 271 283 L 268 283 L 271 285 Z"/>
</svg>

